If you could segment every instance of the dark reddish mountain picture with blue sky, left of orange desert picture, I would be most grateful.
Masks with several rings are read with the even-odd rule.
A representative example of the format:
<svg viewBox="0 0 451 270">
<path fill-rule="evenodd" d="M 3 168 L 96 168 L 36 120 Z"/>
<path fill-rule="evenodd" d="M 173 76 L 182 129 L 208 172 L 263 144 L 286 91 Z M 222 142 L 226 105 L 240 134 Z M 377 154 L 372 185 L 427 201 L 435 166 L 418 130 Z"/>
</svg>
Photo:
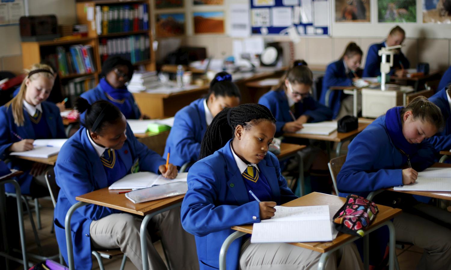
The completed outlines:
<svg viewBox="0 0 451 270">
<path fill-rule="evenodd" d="M 156 14 L 155 32 L 157 37 L 174 37 L 185 34 L 185 14 Z"/>
</svg>

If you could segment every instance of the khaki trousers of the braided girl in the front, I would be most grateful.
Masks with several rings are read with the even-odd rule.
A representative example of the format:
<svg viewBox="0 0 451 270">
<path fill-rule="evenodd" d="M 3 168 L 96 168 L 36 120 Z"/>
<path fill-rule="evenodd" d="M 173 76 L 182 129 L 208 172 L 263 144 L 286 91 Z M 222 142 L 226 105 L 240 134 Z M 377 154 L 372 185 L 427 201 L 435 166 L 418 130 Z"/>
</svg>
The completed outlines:
<svg viewBox="0 0 451 270">
<path fill-rule="evenodd" d="M 250 243 L 241 246 L 240 270 L 316 270 L 321 253 L 287 243 Z M 326 270 L 363 270 L 363 263 L 354 243 L 333 253 Z"/>
</svg>

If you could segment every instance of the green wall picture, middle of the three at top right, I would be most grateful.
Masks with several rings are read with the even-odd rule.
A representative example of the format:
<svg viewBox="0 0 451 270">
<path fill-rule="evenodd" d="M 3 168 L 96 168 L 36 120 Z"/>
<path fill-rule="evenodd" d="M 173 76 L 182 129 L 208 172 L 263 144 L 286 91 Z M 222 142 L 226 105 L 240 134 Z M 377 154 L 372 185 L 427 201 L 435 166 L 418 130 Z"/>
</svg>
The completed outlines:
<svg viewBox="0 0 451 270">
<path fill-rule="evenodd" d="M 378 0 L 377 17 L 379 23 L 415 23 L 416 0 Z"/>
</svg>

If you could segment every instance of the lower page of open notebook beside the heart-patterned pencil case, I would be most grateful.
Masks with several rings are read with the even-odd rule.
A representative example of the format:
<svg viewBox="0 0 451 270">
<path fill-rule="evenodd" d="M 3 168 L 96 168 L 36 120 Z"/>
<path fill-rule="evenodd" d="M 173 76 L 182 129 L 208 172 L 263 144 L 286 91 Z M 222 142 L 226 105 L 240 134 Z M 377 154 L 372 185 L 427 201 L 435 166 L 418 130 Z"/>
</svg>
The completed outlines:
<svg viewBox="0 0 451 270">
<path fill-rule="evenodd" d="M 331 241 L 329 220 L 260 222 L 253 224 L 251 243 Z"/>
</svg>

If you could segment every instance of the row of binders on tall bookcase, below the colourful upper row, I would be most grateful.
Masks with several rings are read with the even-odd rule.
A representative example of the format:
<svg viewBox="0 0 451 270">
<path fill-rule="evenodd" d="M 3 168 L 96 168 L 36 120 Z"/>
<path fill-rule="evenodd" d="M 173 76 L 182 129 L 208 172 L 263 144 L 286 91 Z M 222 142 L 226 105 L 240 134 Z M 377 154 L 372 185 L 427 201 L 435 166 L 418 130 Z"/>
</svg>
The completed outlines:
<svg viewBox="0 0 451 270">
<path fill-rule="evenodd" d="M 102 62 L 111 55 L 120 55 L 132 63 L 150 59 L 150 40 L 147 35 L 102 38 L 99 44 Z"/>
</svg>

